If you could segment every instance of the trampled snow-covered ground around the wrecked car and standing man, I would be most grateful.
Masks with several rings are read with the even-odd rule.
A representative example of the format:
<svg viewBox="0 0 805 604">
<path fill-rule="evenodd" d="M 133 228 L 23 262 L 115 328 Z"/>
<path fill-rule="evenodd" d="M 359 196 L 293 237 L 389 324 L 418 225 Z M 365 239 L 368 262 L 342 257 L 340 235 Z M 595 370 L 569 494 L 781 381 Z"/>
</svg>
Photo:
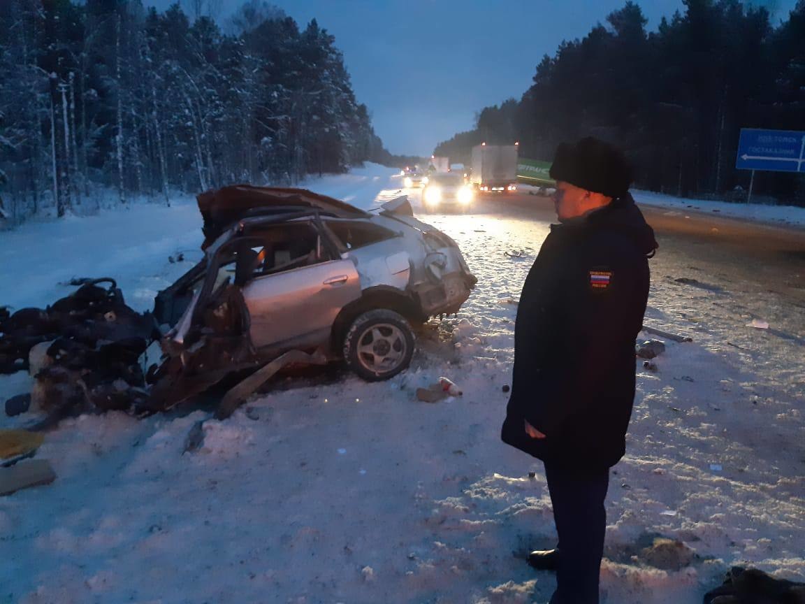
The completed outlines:
<svg viewBox="0 0 805 604">
<path fill-rule="evenodd" d="M 390 174 L 305 186 L 369 209 L 393 195 Z M 0 602 L 547 602 L 553 577 L 524 562 L 555 539 L 542 466 L 499 428 L 516 300 L 548 225 L 490 203 L 423 220 L 456 239 L 479 283 L 419 335 L 410 370 L 283 379 L 208 420 L 196 453 L 182 452 L 200 411 L 64 421 L 37 455 L 56 482 L 0 499 Z M 150 308 L 200 240 L 191 199 L 29 223 L 0 235 L 0 279 L 14 283 L 0 302 L 43 305 L 72 291 L 58 282 L 108 275 Z M 180 250 L 191 258 L 169 263 Z M 652 260 L 646 324 L 694 341 L 668 341 L 657 372 L 638 369 L 608 496 L 608 604 L 700 602 L 733 564 L 805 581 L 805 308 L 680 258 Z M 464 395 L 419 402 L 440 375 Z M 0 399 L 27 383 L 0 376 Z M 642 551 L 655 533 L 687 544 L 691 565 L 658 568 Z"/>
</svg>

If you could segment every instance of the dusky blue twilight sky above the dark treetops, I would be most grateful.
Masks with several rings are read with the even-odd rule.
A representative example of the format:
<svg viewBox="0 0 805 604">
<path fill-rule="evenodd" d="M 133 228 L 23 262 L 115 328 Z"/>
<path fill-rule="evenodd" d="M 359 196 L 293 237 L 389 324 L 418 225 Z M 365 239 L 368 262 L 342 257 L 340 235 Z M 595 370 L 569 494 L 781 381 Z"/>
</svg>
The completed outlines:
<svg viewBox="0 0 805 604">
<path fill-rule="evenodd" d="M 181 0 L 189 9 L 192 0 Z M 175 0 L 145 0 L 164 10 Z M 213 0 L 223 21 L 240 0 Z M 316 19 L 336 37 L 353 89 L 386 148 L 430 155 L 475 126 L 475 114 L 528 89 L 543 55 L 583 37 L 625 0 L 275 0 L 299 27 Z M 656 29 L 682 0 L 638 0 Z M 795 0 L 767 6 L 775 25 Z"/>
</svg>

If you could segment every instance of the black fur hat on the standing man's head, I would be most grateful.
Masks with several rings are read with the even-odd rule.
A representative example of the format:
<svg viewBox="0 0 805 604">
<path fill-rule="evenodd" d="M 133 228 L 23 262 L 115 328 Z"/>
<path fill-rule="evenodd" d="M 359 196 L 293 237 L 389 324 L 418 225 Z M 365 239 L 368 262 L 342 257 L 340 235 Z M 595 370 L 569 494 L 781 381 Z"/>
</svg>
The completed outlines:
<svg viewBox="0 0 805 604">
<path fill-rule="evenodd" d="M 607 197 L 622 197 L 632 184 L 632 167 L 623 153 L 588 136 L 576 144 L 561 143 L 551 165 L 551 178 L 564 180 Z"/>
</svg>

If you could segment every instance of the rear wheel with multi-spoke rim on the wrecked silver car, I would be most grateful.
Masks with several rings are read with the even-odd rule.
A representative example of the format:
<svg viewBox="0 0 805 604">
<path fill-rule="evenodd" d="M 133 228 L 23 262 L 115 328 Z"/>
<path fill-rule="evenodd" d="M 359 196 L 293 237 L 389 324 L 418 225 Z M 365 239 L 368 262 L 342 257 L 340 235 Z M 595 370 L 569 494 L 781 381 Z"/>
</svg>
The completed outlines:
<svg viewBox="0 0 805 604">
<path fill-rule="evenodd" d="M 378 308 L 357 316 L 344 340 L 349 369 L 367 382 L 394 377 L 414 354 L 414 332 L 402 315 Z"/>
</svg>

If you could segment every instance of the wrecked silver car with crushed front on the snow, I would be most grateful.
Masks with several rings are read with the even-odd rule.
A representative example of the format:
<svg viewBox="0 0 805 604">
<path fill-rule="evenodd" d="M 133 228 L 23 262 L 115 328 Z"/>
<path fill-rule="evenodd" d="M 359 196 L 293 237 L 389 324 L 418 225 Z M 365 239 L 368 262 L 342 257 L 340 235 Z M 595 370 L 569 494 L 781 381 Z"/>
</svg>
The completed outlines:
<svg viewBox="0 0 805 604">
<path fill-rule="evenodd" d="M 389 379 L 411 362 L 411 325 L 457 312 L 477 281 L 406 197 L 365 212 L 303 189 L 238 185 L 197 201 L 204 259 L 155 303 L 166 331 L 150 376 L 159 407 L 291 350 Z"/>
</svg>

